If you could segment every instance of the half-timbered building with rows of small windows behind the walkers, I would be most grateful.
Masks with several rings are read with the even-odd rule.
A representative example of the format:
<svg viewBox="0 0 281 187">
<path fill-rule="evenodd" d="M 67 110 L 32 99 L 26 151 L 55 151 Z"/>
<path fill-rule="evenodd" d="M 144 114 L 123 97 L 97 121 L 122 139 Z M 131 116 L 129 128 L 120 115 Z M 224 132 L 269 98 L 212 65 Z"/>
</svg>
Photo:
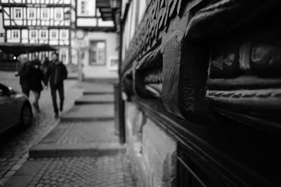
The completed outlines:
<svg viewBox="0 0 281 187">
<path fill-rule="evenodd" d="M 74 5 L 74 0 L 1 0 L 5 42 L 49 44 L 63 63 L 70 63 Z"/>
</svg>

